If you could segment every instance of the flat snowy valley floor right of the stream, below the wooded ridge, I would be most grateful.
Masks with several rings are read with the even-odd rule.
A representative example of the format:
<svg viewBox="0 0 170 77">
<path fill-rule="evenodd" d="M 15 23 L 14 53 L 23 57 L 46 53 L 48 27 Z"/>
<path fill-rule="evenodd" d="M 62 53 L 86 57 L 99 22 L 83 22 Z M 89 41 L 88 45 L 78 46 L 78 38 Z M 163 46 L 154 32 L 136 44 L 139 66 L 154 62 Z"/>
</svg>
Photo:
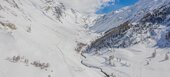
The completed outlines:
<svg viewBox="0 0 170 77">
<path fill-rule="evenodd" d="M 169 77 L 169 52 L 169 49 L 137 45 L 98 54 L 84 54 L 87 58 L 83 62 L 103 69 L 109 77 Z"/>
</svg>

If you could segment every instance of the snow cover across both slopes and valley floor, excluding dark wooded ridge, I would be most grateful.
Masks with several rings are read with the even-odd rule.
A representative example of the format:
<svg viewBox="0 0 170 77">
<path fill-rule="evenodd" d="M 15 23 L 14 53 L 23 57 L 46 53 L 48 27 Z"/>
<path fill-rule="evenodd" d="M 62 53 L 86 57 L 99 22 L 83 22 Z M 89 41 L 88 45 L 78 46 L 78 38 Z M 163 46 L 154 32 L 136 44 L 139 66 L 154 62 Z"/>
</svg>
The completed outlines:
<svg viewBox="0 0 170 77">
<path fill-rule="evenodd" d="M 57 0 L 1 0 L 0 77 L 170 77 L 169 48 L 141 43 L 102 52 L 75 50 L 77 43 L 90 44 L 100 36 L 88 27 L 105 32 L 133 18 L 139 10 L 153 10 L 147 8 L 157 8 L 166 0 L 140 1 L 144 3 L 135 5 L 139 9 L 126 7 L 94 24 L 95 16 L 82 15 Z"/>
</svg>

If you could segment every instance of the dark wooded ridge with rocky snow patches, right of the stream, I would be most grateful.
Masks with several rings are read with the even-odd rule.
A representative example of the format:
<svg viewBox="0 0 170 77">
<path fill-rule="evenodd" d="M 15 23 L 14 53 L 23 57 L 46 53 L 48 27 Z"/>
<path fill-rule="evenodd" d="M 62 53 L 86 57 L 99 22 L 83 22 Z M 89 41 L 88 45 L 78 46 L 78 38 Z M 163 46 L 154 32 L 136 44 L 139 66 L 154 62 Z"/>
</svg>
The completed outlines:
<svg viewBox="0 0 170 77">
<path fill-rule="evenodd" d="M 102 48 L 125 48 L 143 42 L 148 46 L 169 47 L 169 1 L 161 4 L 141 18 L 119 23 L 120 25 L 93 41 L 88 49 L 95 51 Z"/>
</svg>

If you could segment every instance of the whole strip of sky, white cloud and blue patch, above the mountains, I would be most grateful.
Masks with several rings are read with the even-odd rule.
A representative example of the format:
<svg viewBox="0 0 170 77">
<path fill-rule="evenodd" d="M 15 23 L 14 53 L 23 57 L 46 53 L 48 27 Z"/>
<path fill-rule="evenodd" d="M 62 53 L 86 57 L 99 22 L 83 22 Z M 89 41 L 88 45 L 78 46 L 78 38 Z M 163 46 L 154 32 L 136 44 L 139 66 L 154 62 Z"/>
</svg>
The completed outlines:
<svg viewBox="0 0 170 77">
<path fill-rule="evenodd" d="M 81 13 L 105 14 L 132 5 L 138 0 L 58 0 Z"/>
</svg>

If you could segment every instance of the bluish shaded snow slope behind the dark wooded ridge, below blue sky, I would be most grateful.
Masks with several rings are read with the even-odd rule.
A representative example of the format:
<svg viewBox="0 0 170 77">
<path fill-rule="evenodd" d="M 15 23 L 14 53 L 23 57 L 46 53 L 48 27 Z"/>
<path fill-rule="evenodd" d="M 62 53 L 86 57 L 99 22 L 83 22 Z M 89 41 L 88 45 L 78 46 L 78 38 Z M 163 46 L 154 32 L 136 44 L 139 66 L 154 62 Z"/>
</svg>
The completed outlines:
<svg viewBox="0 0 170 77">
<path fill-rule="evenodd" d="M 146 13 L 165 3 L 167 0 L 139 0 L 134 5 L 101 16 L 90 29 L 97 33 L 104 33 L 128 20 L 137 21 Z"/>
</svg>

